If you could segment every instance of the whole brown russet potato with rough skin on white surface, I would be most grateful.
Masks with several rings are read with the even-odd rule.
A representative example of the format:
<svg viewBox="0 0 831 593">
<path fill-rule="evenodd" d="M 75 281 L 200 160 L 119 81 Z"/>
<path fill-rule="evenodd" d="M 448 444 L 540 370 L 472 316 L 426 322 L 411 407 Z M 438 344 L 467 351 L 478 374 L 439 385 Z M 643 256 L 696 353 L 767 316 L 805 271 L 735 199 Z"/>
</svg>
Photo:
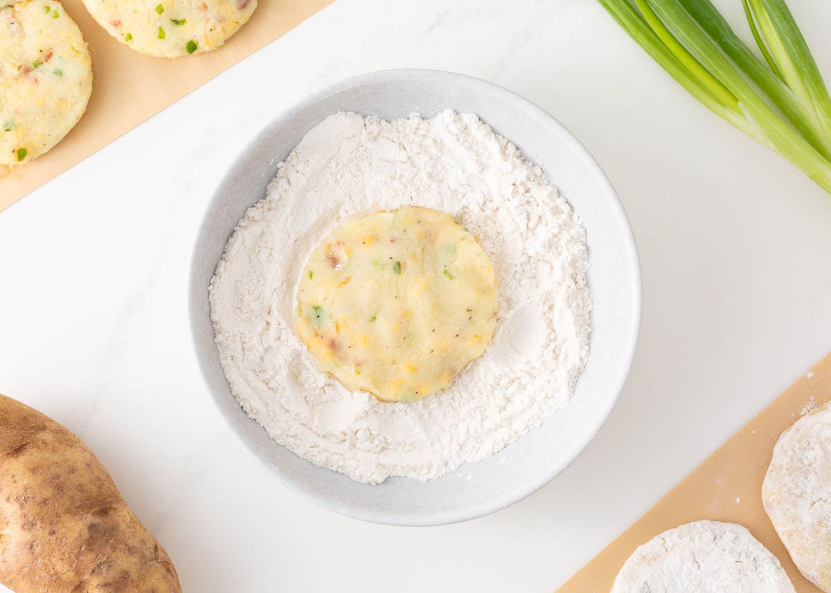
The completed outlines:
<svg viewBox="0 0 831 593">
<path fill-rule="evenodd" d="M 16 593 L 182 591 L 167 553 L 86 444 L 5 395 L 0 583 Z"/>
</svg>

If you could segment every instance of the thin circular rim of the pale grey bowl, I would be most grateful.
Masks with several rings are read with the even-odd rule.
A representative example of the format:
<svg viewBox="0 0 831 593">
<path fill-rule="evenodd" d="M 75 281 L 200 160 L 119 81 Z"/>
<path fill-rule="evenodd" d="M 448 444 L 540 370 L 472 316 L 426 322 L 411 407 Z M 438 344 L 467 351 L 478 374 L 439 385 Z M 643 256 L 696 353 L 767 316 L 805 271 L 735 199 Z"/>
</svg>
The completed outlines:
<svg viewBox="0 0 831 593">
<path fill-rule="evenodd" d="M 621 350 L 621 360 L 624 360 L 626 364 L 622 365 L 620 367 L 621 370 L 617 372 L 617 376 L 614 376 L 609 381 L 609 390 L 614 395 L 612 398 L 607 400 L 607 405 L 605 406 L 605 409 L 598 410 L 602 413 L 597 414 L 597 420 L 595 421 L 594 425 L 591 427 L 591 429 L 589 429 L 586 432 L 583 439 L 580 439 L 580 442 L 578 443 L 579 446 L 576 449 L 577 453 L 574 454 L 573 458 L 565 460 L 562 463 L 558 463 L 558 465 L 549 468 L 546 472 L 539 473 L 534 479 L 529 480 L 528 483 L 525 483 L 523 488 L 517 488 L 511 493 L 506 493 L 504 497 L 501 497 L 499 499 L 493 499 L 487 503 L 481 503 L 475 507 L 465 508 L 464 511 L 444 510 L 440 512 L 420 513 L 418 515 L 408 512 L 368 510 L 366 508 L 356 507 L 352 504 L 348 504 L 345 502 L 335 502 L 332 501 L 332 499 L 329 497 L 319 495 L 316 491 L 313 491 L 310 488 L 305 488 L 305 485 L 302 483 L 295 483 L 292 480 L 289 480 L 283 475 L 283 473 L 279 471 L 278 468 L 275 468 L 273 464 L 269 462 L 268 458 L 266 458 L 264 454 L 260 452 L 257 447 L 254 446 L 254 444 L 248 442 L 248 439 L 243 434 L 242 429 L 238 428 L 238 426 L 234 424 L 234 422 L 232 422 L 232 420 L 229 418 L 228 414 L 224 413 L 224 410 L 222 409 L 222 406 L 220 404 L 220 396 L 211 387 L 211 381 L 208 374 L 206 362 L 204 361 L 204 357 L 199 354 L 200 342 L 197 331 L 199 320 L 197 319 L 197 310 L 195 306 L 197 299 L 205 297 L 205 287 L 196 286 L 195 272 L 198 264 L 197 257 L 199 254 L 199 245 L 204 241 L 205 233 L 207 232 L 207 228 L 209 227 L 209 214 L 214 212 L 215 206 L 223 201 L 223 195 L 220 190 L 223 189 L 226 184 L 228 184 L 230 179 L 232 179 L 234 171 L 238 169 L 240 164 L 243 164 L 243 162 L 248 156 L 249 150 L 253 146 L 258 145 L 262 140 L 264 140 L 265 137 L 267 137 L 267 135 L 269 134 L 269 130 L 271 130 L 278 121 L 289 120 L 294 115 L 297 115 L 300 112 L 302 112 L 302 110 L 307 109 L 310 105 L 314 105 L 326 99 L 329 96 L 336 95 L 337 93 L 353 88 L 355 86 L 363 86 L 366 84 L 379 82 L 412 80 L 434 82 L 438 81 L 445 84 L 454 84 L 459 81 L 464 81 L 466 85 L 470 86 L 474 90 L 479 89 L 483 92 L 483 94 L 488 94 L 489 96 L 493 96 L 496 99 L 504 100 L 504 102 L 509 103 L 511 105 L 516 105 L 519 109 L 524 110 L 524 112 L 528 113 L 529 116 L 532 117 L 534 120 L 538 120 L 541 125 L 546 126 L 548 130 L 553 130 L 556 133 L 556 135 L 558 135 L 558 137 L 561 140 L 563 140 L 563 142 L 566 145 L 568 145 L 568 148 L 573 150 L 573 153 L 578 157 L 578 159 L 583 161 L 583 164 L 590 171 L 593 177 L 597 180 L 597 183 L 602 186 L 604 193 L 608 194 L 609 197 L 612 198 L 610 200 L 610 203 L 608 204 L 608 207 L 613 208 L 615 218 L 617 218 L 622 223 L 620 230 L 624 238 L 624 247 L 626 251 L 624 255 L 628 260 L 633 272 L 633 294 L 631 295 L 632 330 L 629 332 L 627 343 L 622 345 L 623 348 Z M 188 282 L 188 316 L 190 336 L 192 344 L 194 346 L 194 350 L 196 350 L 195 354 L 199 364 L 199 371 L 202 375 L 206 388 L 209 390 L 211 394 L 211 398 L 214 400 L 214 404 L 219 408 L 220 415 L 223 417 L 225 423 L 230 426 L 232 432 L 237 436 L 238 439 L 243 441 L 243 444 L 245 444 L 248 450 L 254 453 L 255 457 L 257 457 L 262 463 L 264 463 L 266 466 L 268 466 L 268 468 L 271 469 L 272 473 L 277 477 L 279 483 L 281 483 L 285 488 L 288 488 L 288 490 L 290 490 L 291 492 L 300 495 L 306 500 L 314 502 L 318 506 L 326 508 L 329 511 L 346 515 L 347 517 L 352 517 L 367 522 L 379 523 L 383 525 L 393 525 L 399 527 L 431 527 L 438 525 L 448 525 L 457 522 L 465 522 L 475 518 L 484 517 L 494 512 L 501 511 L 504 508 L 509 507 L 514 503 L 523 500 L 526 497 L 529 497 L 531 494 L 537 492 L 540 488 L 543 488 L 543 486 L 545 486 L 548 482 L 553 480 L 553 478 L 556 478 L 558 474 L 562 473 L 566 468 L 568 468 L 572 463 L 574 463 L 574 461 L 588 447 L 588 444 L 590 444 L 593 441 L 593 439 L 597 436 L 597 433 L 600 431 L 602 426 L 606 424 L 609 415 L 612 414 L 612 409 L 614 409 L 615 405 L 617 404 L 617 401 L 620 399 L 622 390 L 627 382 L 629 371 L 632 368 L 632 361 L 634 360 L 635 351 L 637 349 L 637 341 L 640 334 L 642 321 L 641 263 L 638 257 L 637 243 L 635 241 L 634 233 L 632 233 L 632 225 L 629 222 L 627 213 L 623 208 L 623 204 L 619 196 L 617 195 L 617 192 L 615 191 L 614 187 L 612 186 L 611 181 L 608 179 L 606 173 L 603 171 L 600 164 L 597 163 L 597 160 L 594 159 L 591 153 L 589 153 L 588 149 L 586 149 L 586 147 L 577 139 L 575 135 L 571 133 L 571 131 L 569 131 L 556 118 L 554 118 L 553 115 L 549 114 L 548 111 L 543 110 L 542 107 L 536 105 L 531 100 L 526 99 L 524 96 L 520 96 L 514 91 L 509 91 L 503 86 L 499 86 L 493 82 L 484 81 L 474 76 L 467 76 L 464 74 L 458 74 L 450 71 L 428 70 L 418 68 L 381 70 L 351 76 L 349 78 L 343 79 L 342 81 L 334 82 L 328 86 L 324 86 L 321 89 L 312 92 L 312 94 L 305 96 L 304 98 L 302 98 L 302 100 L 298 100 L 293 105 L 280 111 L 277 115 L 274 115 L 271 118 L 271 120 L 268 121 L 268 124 L 263 127 L 263 130 L 260 130 L 257 135 L 253 136 L 253 138 L 249 140 L 248 143 L 246 143 L 242 152 L 238 155 L 236 159 L 234 159 L 234 162 L 229 165 L 228 170 L 219 180 L 219 183 L 215 185 L 214 194 L 211 196 L 209 202 L 206 203 L 204 207 L 201 223 L 199 224 L 199 228 L 196 233 L 196 238 L 194 239 L 194 244 L 192 247 L 192 253 L 190 257 Z M 250 417 L 248 419 L 251 422 L 257 422 L 256 420 L 251 419 Z M 306 463 L 311 462 L 307 461 Z"/>
</svg>

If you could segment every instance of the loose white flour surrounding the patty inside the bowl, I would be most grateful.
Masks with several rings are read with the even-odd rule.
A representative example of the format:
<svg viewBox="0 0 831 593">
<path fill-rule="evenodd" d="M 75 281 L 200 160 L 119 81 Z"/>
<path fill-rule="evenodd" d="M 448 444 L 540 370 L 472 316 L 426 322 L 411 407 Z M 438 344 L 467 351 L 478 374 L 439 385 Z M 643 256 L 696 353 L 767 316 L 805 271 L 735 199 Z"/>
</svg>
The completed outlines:
<svg viewBox="0 0 831 593">
<path fill-rule="evenodd" d="M 496 270 L 499 321 L 484 355 L 415 403 L 351 392 L 307 353 L 293 323 L 312 249 L 377 210 L 449 213 Z M 588 358 L 583 225 L 543 172 L 476 115 L 328 116 L 248 209 L 210 286 L 231 390 L 272 439 L 365 483 L 430 479 L 504 448 L 568 403 Z"/>
</svg>

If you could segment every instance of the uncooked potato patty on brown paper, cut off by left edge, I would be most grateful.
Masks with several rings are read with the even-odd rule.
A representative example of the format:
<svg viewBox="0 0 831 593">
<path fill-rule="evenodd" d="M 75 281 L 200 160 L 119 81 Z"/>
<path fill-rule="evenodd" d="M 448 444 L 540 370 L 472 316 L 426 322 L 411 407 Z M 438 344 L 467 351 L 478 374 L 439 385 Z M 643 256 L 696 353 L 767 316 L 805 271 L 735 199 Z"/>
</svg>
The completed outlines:
<svg viewBox="0 0 831 593">
<path fill-rule="evenodd" d="M 57 145 L 84 115 L 91 92 L 90 52 L 60 2 L 0 8 L 0 166 Z"/>
</svg>

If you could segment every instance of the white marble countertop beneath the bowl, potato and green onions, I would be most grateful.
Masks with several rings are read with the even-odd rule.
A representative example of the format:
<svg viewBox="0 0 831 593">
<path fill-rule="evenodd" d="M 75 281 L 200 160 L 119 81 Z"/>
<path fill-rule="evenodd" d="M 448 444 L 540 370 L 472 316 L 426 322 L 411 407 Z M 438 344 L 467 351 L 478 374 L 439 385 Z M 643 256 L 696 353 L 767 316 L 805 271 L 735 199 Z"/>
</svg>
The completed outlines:
<svg viewBox="0 0 831 593">
<path fill-rule="evenodd" d="M 0 391 L 91 445 L 185 591 L 553 591 L 831 350 L 831 197 L 686 96 L 596 2 L 448 4 L 337 0 L 0 213 Z M 718 4 L 740 22 L 738 0 Z M 831 8 L 790 4 L 831 80 Z M 542 491 L 450 527 L 357 522 L 282 488 L 214 408 L 186 316 L 229 160 L 309 91 L 393 67 L 550 111 L 607 170 L 642 257 L 641 343 L 606 427 Z"/>
</svg>

